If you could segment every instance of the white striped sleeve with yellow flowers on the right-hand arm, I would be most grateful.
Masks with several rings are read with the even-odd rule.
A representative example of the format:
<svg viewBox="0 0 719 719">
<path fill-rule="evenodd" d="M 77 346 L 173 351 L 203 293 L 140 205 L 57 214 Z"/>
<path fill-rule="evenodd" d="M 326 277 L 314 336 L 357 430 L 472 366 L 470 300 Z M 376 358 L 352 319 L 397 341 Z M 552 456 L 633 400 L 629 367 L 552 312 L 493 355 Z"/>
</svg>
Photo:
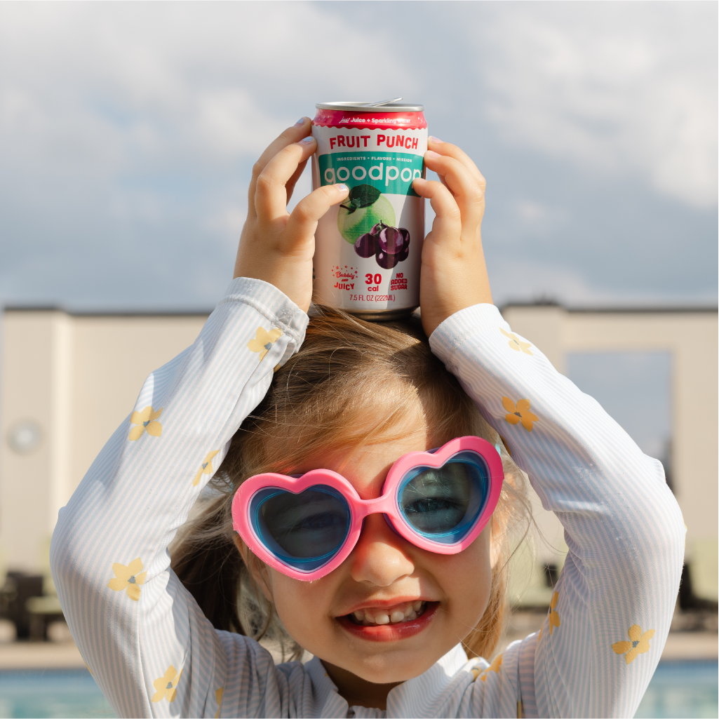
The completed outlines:
<svg viewBox="0 0 719 719">
<path fill-rule="evenodd" d="M 539 716 L 633 716 L 661 657 L 684 557 L 661 463 L 494 306 L 459 311 L 430 343 L 557 514 L 569 547 L 539 638 L 514 648 L 526 657 L 536 642 L 533 690 L 513 658 L 506 671 L 518 673 L 487 672 L 478 693 L 496 696 L 477 701 L 499 708 L 518 690 L 526 715 L 533 692 Z"/>
</svg>

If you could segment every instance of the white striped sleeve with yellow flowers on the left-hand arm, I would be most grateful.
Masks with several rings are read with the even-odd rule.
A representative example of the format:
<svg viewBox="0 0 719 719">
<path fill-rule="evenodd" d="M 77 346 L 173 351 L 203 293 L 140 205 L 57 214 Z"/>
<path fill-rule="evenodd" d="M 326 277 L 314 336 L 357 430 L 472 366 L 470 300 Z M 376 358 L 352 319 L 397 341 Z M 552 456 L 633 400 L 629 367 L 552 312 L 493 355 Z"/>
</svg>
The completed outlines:
<svg viewBox="0 0 719 719">
<path fill-rule="evenodd" d="M 234 280 L 193 345 L 147 377 L 134 411 L 60 510 L 52 576 L 118 715 L 219 708 L 232 657 L 170 569 L 167 548 L 307 321 L 272 285 Z M 242 698 L 256 700 L 249 664 L 262 657 L 248 646 L 237 652 L 247 655 Z"/>
</svg>

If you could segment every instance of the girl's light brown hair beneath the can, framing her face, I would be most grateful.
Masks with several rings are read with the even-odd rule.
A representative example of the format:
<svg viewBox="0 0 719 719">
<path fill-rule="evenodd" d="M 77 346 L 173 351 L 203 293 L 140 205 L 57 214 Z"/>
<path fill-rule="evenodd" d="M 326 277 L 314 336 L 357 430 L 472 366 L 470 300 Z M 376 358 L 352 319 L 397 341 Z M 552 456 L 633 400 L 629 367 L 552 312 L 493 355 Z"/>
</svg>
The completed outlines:
<svg viewBox="0 0 719 719">
<path fill-rule="evenodd" d="M 284 631 L 252 579 L 232 528 L 232 497 L 260 472 L 292 474 L 309 457 L 402 436 L 422 417 L 436 442 L 475 435 L 501 448 L 505 482 L 493 515 L 490 600 L 464 639 L 470 656 L 490 657 L 503 632 L 510 537 L 521 538 L 530 513 L 526 475 L 498 434 L 432 354 L 416 317 L 375 324 L 317 308 L 305 341 L 277 372 L 267 395 L 240 426 L 229 452 L 171 548 L 172 566 L 215 628 L 280 644 L 298 659 L 302 648 Z M 391 458 L 390 458 L 391 459 Z M 519 530 L 519 531 L 517 531 Z M 247 550 L 249 562 L 262 566 Z"/>
</svg>

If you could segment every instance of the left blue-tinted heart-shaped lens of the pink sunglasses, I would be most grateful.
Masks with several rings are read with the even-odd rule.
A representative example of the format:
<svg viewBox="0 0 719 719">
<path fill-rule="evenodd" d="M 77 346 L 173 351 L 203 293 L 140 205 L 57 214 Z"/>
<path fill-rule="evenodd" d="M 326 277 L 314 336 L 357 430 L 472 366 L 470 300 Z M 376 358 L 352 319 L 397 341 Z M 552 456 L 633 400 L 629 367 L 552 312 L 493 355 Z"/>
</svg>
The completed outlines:
<svg viewBox="0 0 719 719">
<path fill-rule="evenodd" d="M 252 498 L 249 516 L 262 544 L 281 562 L 305 572 L 329 562 L 349 533 L 347 500 L 324 485 L 299 494 L 267 487 Z"/>
</svg>

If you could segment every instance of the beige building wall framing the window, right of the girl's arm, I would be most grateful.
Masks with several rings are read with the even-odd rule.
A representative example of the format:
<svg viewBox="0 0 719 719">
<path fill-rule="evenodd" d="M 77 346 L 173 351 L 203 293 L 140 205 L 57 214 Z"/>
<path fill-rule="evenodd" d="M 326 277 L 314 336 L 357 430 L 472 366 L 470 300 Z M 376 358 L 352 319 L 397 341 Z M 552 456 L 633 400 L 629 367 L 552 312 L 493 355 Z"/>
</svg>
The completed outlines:
<svg viewBox="0 0 719 719">
<path fill-rule="evenodd" d="M 716 311 L 567 311 L 509 306 L 512 329 L 564 372 L 569 352 L 672 355 L 672 476 L 687 525 L 687 562 L 697 593 L 717 597 L 718 349 Z M 550 533 L 551 516 L 541 516 Z M 544 513 L 549 514 L 549 513 Z M 695 571 L 696 570 L 696 571 Z"/>
</svg>

